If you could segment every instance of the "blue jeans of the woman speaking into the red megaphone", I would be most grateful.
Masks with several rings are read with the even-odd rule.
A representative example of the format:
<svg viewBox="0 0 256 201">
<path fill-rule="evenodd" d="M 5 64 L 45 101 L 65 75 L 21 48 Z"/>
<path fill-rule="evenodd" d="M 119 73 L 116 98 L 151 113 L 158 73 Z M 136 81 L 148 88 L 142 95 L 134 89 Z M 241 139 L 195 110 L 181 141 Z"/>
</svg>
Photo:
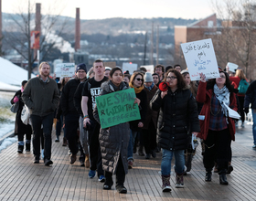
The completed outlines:
<svg viewBox="0 0 256 201">
<path fill-rule="evenodd" d="M 175 154 L 176 158 L 176 167 L 175 171 L 177 174 L 183 174 L 185 168 L 185 159 L 184 159 L 184 150 L 175 150 L 170 151 L 166 149 L 162 149 L 162 163 L 161 163 L 161 174 L 162 175 L 170 175 L 171 174 L 171 163 L 173 154 Z"/>
</svg>

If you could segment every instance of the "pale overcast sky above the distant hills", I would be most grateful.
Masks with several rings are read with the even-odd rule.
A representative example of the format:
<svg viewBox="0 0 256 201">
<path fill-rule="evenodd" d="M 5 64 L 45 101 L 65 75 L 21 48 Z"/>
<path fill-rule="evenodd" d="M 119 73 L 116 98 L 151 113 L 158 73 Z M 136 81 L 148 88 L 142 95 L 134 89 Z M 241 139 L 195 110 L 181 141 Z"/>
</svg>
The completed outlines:
<svg viewBox="0 0 256 201">
<path fill-rule="evenodd" d="M 27 10 L 27 2 L 28 0 L 2 0 L 2 12 L 15 13 L 20 7 Z M 214 13 L 212 0 L 30 0 L 30 2 L 31 5 L 35 2 L 41 3 L 42 14 L 50 10 L 52 14 L 60 13 L 61 16 L 75 17 L 76 7 L 80 7 L 81 19 L 110 17 L 199 19 Z"/>
</svg>

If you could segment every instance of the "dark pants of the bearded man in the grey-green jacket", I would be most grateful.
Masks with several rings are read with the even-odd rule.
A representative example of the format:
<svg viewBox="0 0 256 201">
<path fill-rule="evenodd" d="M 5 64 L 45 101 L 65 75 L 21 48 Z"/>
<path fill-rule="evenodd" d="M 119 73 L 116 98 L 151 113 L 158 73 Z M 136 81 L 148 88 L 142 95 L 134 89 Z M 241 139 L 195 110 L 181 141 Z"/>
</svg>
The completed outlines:
<svg viewBox="0 0 256 201">
<path fill-rule="evenodd" d="M 43 135 L 45 139 L 45 144 L 44 144 L 45 157 L 44 158 L 50 159 L 53 113 L 50 113 L 44 117 L 31 114 L 30 118 L 31 118 L 32 130 L 33 130 L 33 153 L 35 157 L 40 156 L 41 125 L 43 125 Z"/>
</svg>

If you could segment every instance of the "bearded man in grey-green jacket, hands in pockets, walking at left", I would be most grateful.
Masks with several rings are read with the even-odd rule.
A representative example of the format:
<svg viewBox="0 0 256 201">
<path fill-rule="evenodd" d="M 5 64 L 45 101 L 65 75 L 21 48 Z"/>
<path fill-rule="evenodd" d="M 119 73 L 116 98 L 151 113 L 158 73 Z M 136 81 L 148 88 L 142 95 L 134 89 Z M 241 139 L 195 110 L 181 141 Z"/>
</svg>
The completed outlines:
<svg viewBox="0 0 256 201">
<path fill-rule="evenodd" d="M 33 130 L 34 164 L 39 164 L 40 132 L 43 127 L 45 138 L 44 163 L 53 164 L 51 157 L 51 130 L 54 111 L 59 104 L 59 90 L 54 79 L 49 78 L 50 66 L 42 62 L 39 66 L 39 76 L 29 79 L 22 94 L 22 99 L 30 110 Z"/>
</svg>

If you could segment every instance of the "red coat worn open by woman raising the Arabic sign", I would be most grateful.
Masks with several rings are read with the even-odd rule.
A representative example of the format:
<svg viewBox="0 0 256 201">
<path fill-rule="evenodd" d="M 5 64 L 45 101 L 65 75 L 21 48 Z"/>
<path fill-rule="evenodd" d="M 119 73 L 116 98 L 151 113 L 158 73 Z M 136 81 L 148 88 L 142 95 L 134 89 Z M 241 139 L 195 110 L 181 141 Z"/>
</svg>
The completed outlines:
<svg viewBox="0 0 256 201">
<path fill-rule="evenodd" d="M 200 120 L 200 129 L 201 132 L 198 133 L 198 137 L 206 140 L 208 137 L 208 127 L 209 127 L 209 118 L 210 118 L 210 104 L 211 99 L 213 96 L 213 90 L 207 90 L 207 82 L 199 82 L 198 90 L 197 90 L 197 101 L 198 102 L 204 102 L 204 106 L 202 108 L 202 111 L 200 112 L 200 115 L 205 116 L 205 120 Z M 236 100 L 236 94 L 230 93 L 229 97 L 229 108 L 238 111 L 237 107 L 237 100 Z M 228 128 L 229 133 L 231 136 L 231 140 L 235 141 L 235 122 L 230 117 L 228 118 Z"/>
</svg>

